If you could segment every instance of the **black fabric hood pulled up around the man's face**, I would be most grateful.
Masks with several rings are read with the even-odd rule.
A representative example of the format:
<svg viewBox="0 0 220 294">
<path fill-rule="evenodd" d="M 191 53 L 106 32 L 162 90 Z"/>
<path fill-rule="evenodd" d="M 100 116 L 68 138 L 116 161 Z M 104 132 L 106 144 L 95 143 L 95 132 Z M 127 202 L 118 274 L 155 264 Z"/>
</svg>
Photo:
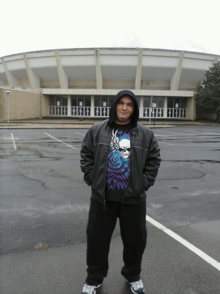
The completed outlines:
<svg viewBox="0 0 220 294">
<path fill-rule="evenodd" d="M 129 90 L 122 90 L 122 91 L 118 92 L 118 94 L 115 96 L 115 99 L 113 100 L 113 103 L 112 103 L 112 106 L 110 109 L 108 123 L 110 126 L 112 126 L 112 123 L 113 123 L 114 119 L 116 118 L 115 104 L 119 100 L 119 98 L 124 95 L 130 96 L 134 102 L 134 112 L 131 117 L 131 125 L 132 125 L 132 128 L 134 128 L 136 126 L 138 118 L 139 118 L 139 108 L 138 108 L 137 98 L 135 97 L 134 93 Z"/>
</svg>

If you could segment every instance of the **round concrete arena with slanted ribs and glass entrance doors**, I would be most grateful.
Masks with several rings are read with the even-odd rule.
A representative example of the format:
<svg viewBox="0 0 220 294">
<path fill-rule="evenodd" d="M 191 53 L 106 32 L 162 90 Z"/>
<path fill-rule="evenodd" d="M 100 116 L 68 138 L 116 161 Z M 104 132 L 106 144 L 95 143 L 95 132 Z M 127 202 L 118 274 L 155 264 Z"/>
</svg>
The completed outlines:
<svg viewBox="0 0 220 294">
<path fill-rule="evenodd" d="M 139 48 L 27 52 L 0 58 L 0 120 L 108 117 L 121 89 L 138 97 L 140 118 L 196 119 L 194 91 L 220 56 Z M 7 96 L 5 91 L 10 91 Z M 151 105 L 152 98 L 152 105 Z"/>
</svg>

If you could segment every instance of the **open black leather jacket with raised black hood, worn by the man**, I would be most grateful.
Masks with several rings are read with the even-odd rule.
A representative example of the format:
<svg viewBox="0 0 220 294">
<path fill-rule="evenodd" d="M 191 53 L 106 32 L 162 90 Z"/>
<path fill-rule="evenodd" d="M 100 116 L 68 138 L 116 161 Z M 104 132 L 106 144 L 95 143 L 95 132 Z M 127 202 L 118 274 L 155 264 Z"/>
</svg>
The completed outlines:
<svg viewBox="0 0 220 294">
<path fill-rule="evenodd" d="M 123 94 L 119 97 L 125 95 L 125 90 L 121 92 Z M 131 96 L 130 92 L 126 91 L 126 94 L 129 93 Z M 88 130 L 80 152 L 84 180 L 89 186 L 91 185 L 92 197 L 103 203 L 105 203 L 105 172 L 112 137 L 111 123 L 115 117 L 111 112 L 114 114 L 114 105 L 119 97 L 116 96 L 109 119 L 94 124 Z M 137 204 L 145 201 L 145 191 L 154 184 L 160 167 L 160 149 L 152 130 L 136 122 L 138 104 L 135 96 L 132 97 L 136 107 L 135 119 L 132 121 L 133 127 L 130 131 L 130 173 L 122 203 Z"/>
</svg>

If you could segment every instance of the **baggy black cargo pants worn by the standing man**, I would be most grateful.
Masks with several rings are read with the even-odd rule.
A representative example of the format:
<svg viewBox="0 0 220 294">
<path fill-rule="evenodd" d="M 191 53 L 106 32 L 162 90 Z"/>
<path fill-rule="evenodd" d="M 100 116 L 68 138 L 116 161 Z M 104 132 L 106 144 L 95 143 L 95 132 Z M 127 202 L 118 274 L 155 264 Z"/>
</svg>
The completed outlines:
<svg viewBox="0 0 220 294">
<path fill-rule="evenodd" d="M 99 285 L 108 273 L 108 253 L 112 233 L 119 218 L 123 241 L 121 274 L 129 282 L 140 279 L 141 261 L 147 241 L 146 202 L 123 204 L 107 201 L 103 203 L 91 198 L 87 225 L 87 278 L 89 285 Z"/>
</svg>

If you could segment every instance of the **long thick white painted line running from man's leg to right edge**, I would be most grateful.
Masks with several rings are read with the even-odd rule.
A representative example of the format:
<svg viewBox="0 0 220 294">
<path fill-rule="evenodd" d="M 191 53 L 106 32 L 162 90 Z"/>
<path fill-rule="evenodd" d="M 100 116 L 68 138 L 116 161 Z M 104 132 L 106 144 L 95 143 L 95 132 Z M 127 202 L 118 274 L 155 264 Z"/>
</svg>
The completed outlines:
<svg viewBox="0 0 220 294">
<path fill-rule="evenodd" d="M 206 253 L 201 251 L 199 248 L 195 247 L 193 244 L 189 243 L 188 241 L 186 241 L 185 239 L 183 239 L 181 236 L 177 235 L 176 233 L 174 233 L 170 229 L 164 227 L 162 224 L 160 224 L 156 220 L 152 219 L 148 215 L 146 215 L 146 220 L 149 221 L 149 223 L 153 224 L 155 227 L 162 230 L 164 233 L 166 233 L 169 236 L 171 236 L 172 238 L 174 238 L 176 241 L 180 242 L 182 245 L 187 247 L 189 250 L 196 253 L 199 257 L 201 257 L 206 262 L 208 262 L 211 266 L 214 266 L 216 269 L 218 269 L 220 271 L 220 263 L 217 260 L 211 258 L 209 255 L 207 255 Z"/>
</svg>

